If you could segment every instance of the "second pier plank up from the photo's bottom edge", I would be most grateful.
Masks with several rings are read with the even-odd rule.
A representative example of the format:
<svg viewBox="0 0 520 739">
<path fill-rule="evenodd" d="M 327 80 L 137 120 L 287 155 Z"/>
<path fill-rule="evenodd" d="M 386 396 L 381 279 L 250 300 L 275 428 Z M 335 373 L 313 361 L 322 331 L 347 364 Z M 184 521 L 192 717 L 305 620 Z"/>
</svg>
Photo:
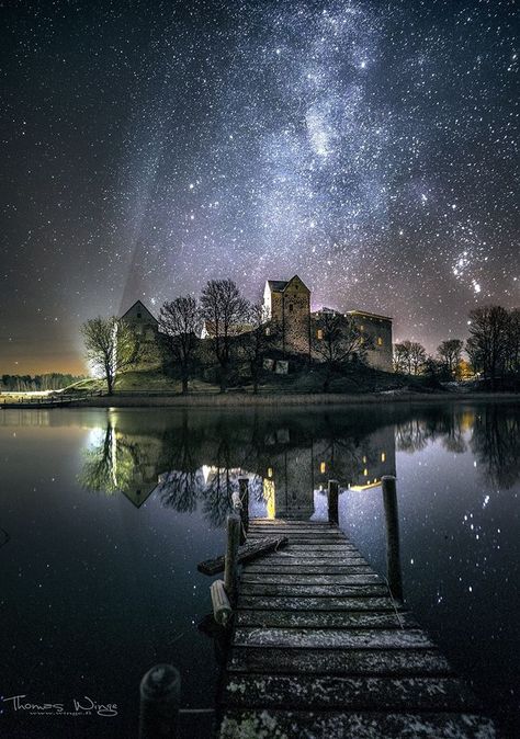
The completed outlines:
<svg viewBox="0 0 520 739">
<path fill-rule="evenodd" d="M 477 702 L 456 678 L 236 674 L 224 704 L 244 708 L 343 710 L 475 710 Z"/>
</svg>

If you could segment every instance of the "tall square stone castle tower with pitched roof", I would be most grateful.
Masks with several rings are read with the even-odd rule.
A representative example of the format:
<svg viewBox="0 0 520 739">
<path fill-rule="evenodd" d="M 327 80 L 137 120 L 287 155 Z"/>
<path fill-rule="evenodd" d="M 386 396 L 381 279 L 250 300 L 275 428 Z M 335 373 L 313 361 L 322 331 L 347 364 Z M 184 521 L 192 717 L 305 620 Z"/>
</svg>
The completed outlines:
<svg viewBox="0 0 520 739">
<path fill-rule="evenodd" d="M 310 354 L 310 291 L 297 274 L 268 280 L 263 291 L 265 320 L 276 325 L 283 352 Z"/>
</svg>

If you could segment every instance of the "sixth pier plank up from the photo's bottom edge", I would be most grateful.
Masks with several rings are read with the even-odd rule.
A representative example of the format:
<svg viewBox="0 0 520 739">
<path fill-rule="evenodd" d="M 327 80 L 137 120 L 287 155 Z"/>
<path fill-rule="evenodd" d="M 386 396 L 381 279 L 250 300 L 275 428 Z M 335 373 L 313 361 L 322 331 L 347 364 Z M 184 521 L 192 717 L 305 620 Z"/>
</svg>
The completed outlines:
<svg viewBox="0 0 520 739">
<path fill-rule="evenodd" d="M 314 591 L 313 591 L 314 592 Z M 386 596 L 363 595 L 357 590 L 357 595 L 336 595 L 315 598 L 313 595 L 248 595 L 240 592 L 238 605 L 241 609 L 268 609 L 285 611 L 392 611 L 402 606 Z"/>
</svg>

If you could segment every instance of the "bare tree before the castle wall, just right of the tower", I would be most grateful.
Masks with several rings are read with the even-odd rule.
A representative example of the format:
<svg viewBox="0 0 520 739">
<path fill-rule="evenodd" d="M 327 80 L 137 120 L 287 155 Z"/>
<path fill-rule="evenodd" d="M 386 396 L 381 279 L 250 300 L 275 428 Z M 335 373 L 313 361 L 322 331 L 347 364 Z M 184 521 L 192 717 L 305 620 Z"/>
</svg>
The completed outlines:
<svg viewBox="0 0 520 739">
<path fill-rule="evenodd" d="M 328 393 L 330 378 L 338 370 L 354 359 L 364 360 L 372 348 L 372 339 L 363 336 L 350 316 L 321 311 L 315 321 L 313 351 L 324 363 L 324 393 Z"/>
</svg>

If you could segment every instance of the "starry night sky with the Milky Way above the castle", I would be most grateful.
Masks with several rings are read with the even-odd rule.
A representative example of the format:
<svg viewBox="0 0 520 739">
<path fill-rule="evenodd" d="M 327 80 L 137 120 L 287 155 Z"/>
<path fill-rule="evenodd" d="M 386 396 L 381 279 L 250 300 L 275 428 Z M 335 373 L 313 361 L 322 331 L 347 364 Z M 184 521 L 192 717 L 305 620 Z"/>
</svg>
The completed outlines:
<svg viewBox="0 0 520 739">
<path fill-rule="evenodd" d="M 519 300 L 512 1 L 0 2 L 0 372 L 210 277 L 432 351 Z M 517 190 L 517 192 L 516 192 Z"/>
</svg>

